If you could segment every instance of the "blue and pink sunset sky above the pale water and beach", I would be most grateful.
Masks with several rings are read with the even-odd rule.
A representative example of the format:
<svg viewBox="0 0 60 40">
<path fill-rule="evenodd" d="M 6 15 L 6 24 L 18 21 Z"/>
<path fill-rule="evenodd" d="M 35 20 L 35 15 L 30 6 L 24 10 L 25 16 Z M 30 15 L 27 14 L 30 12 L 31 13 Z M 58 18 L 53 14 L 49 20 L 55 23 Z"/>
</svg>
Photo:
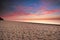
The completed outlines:
<svg viewBox="0 0 60 40">
<path fill-rule="evenodd" d="M 60 20 L 60 0 L 0 0 L 0 3 L 0 16 L 6 20 Z"/>
</svg>

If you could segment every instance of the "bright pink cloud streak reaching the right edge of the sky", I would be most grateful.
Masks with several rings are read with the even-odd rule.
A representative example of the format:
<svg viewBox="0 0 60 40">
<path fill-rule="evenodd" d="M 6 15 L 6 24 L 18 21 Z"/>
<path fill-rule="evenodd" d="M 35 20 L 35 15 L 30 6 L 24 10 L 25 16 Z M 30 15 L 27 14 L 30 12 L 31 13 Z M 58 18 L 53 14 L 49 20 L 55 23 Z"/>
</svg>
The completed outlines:
<svg viewBox="0 0 60 40">
<path fill-rule="evenodd" d="M 38 12 L 40 12 L 43 15 L 54 14 L 56 12 L 60 12 L 60 9 L 51 9 L 51 10 L 48 10 L 46 6 L 42 6 L 42 7 L 39 8 L 39 10 L 37 11 L 37 13 Z"/>
</svg>

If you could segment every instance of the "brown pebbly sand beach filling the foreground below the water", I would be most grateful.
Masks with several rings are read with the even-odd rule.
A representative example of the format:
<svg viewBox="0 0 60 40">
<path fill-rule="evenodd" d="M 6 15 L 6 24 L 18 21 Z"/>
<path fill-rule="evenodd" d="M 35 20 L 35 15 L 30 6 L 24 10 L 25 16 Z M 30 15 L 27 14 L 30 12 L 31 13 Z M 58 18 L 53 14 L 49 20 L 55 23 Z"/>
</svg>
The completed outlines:
<svg viewBox="0 0 60 40">
<path fill-rule="evenodd" d="M 0 40 L 60 40 L 60 25 L 0 21 Z"/>
</svg>

